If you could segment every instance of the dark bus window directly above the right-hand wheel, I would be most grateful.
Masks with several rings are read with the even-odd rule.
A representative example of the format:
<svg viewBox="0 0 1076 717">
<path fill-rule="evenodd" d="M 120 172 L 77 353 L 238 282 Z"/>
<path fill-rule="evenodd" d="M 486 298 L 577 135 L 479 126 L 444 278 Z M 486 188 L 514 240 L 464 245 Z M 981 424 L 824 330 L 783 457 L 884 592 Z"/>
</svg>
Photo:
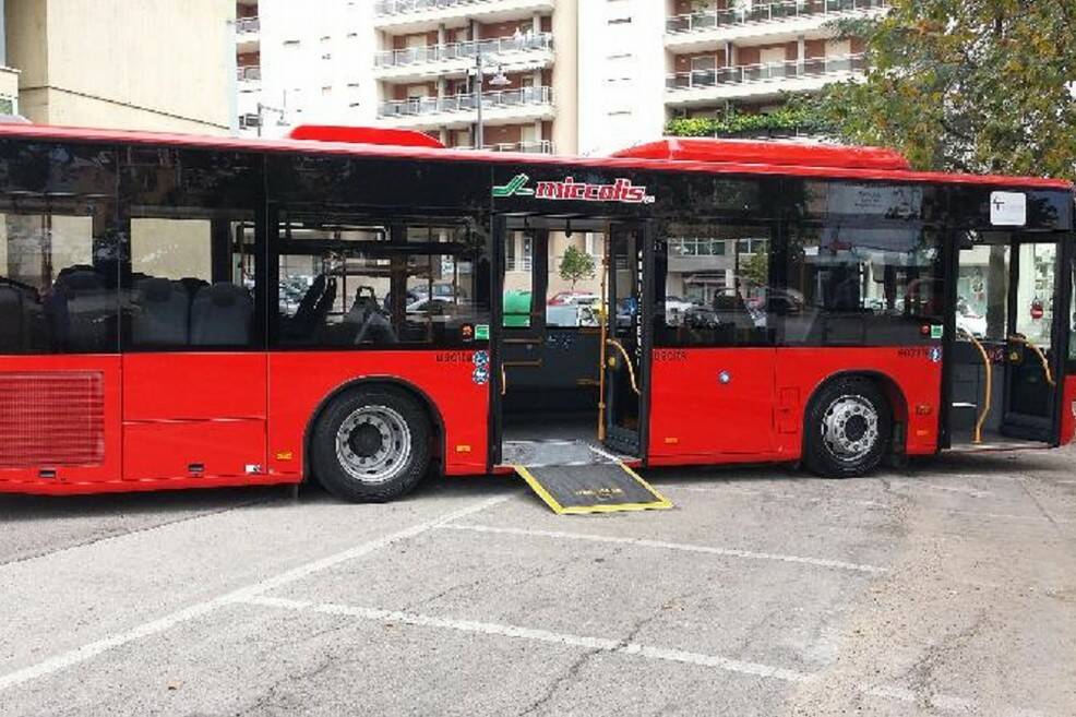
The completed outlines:
<svg viewBox="0 0 1076 717">
<path fill-rule="evenodd" d="M 789 231 L 790 345 L 896 345 L 943 324 L 941 239 L 918 227 L 793 226 Z"/>
</svg>

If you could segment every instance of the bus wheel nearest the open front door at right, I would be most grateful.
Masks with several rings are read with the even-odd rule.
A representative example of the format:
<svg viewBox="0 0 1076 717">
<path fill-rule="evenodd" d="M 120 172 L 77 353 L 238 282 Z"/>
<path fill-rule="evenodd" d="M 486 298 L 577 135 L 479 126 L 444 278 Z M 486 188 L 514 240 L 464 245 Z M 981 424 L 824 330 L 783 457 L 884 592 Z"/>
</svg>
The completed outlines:
<svg viewBox="0 0 1076 717">
<path fill-rule="evenodd" d="M 888 402 L 874 382 L 838 379 L 808 409 L 804 463 L 828 478 L 862 476 L 885 457 L 892 431 Z"/>
</svg>

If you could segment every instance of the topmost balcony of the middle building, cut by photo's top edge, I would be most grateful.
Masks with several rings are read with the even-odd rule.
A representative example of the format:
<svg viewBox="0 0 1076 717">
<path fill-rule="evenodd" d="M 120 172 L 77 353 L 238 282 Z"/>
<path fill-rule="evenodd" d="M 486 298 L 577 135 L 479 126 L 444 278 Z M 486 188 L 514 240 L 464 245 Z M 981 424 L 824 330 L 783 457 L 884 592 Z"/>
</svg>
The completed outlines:
<svg viewBox="0 0 1076 717">
<path fill-rule="evenodd" d="M 555 4 L 555 0 L 378 0 L 373 24 L 392 32 L 426 32 L 442 24 L 462 27 L 471 20 L 485 23 L 549 14 Z"/>
</svg>

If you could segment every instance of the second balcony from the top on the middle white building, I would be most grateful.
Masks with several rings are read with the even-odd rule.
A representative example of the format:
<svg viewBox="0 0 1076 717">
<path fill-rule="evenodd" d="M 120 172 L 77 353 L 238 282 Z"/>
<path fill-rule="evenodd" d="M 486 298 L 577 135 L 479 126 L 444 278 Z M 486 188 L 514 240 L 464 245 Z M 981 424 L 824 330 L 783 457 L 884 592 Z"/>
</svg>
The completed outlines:
<svg viewBox="0 0 1076 717">
<path fill-rule="evenodd" d="M 553 35 L 539 33 L 386 50 L 374 57 L 374 74 L 381 80 L 397 82 L 418 81 L 429 75 L 463 76 L 474 69 L 478 55 L 490 67 L 512 62 L 513 71 L 542 69 L 553 62 Z M 517 68 L 521 63 L 528 67 Z"/>
</svg>

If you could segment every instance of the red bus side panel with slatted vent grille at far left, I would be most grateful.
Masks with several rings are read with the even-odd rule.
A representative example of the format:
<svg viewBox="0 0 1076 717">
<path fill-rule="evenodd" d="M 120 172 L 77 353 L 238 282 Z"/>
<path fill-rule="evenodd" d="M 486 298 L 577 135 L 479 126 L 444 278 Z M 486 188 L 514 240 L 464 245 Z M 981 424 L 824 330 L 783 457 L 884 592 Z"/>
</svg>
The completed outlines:
<svg viewBox="0 0 1076 717">
<path fill-rule="evenodd" d="M 118 480 L 120 357 L 0 357 L 0 492 Z"/>
</svg>

